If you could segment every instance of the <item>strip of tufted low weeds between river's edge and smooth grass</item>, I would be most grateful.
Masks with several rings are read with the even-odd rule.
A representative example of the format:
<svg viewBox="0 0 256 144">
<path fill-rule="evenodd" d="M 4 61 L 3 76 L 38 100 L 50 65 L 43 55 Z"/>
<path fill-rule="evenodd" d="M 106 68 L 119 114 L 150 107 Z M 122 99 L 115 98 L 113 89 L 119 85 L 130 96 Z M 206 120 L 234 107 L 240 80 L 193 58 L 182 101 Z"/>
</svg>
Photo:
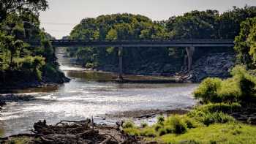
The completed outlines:
<svg viewBox="0 0 256 144">
<path fill-rule="evenodd" d="M 178 135 L 182 136 L 190 132 L 192 129 L 205 129 L 206 126 L 211 126 L 217 123 L 236 123 L 235 119 L 230 115 L 218 111 L 214 113 L 211 113 L 209 111 L 204 112 L 204 110 L 206 110 L 206 107 L 192 110 L 192 112 L 190 112 L 187 115 L 172 115 L 170 117 L 165 118 L 165 121 L 163 121 L 162 124 L 157 123 L 153 126 L 145 126 L 139 128 L 132 126 L 131 122 L 129 122 L 127 128 L 124 128 L 124 132 L 127 132 L 127 134 L 143 136 L 147 138 L 155 137 L 158 140 L 159 137 L 178 137 Z M 241 133 L 233 132 L 233 134 Z"/>
</svg>

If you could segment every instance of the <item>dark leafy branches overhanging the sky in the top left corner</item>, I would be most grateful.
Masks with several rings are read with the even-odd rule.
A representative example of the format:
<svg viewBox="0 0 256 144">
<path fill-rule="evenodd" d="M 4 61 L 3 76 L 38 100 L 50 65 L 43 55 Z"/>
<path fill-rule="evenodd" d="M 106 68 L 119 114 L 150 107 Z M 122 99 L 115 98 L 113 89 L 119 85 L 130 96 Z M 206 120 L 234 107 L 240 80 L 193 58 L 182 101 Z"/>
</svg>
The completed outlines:
<svg viewBox="0 0 256 144">
<path fill-rule="evenodd" d="M 48 8 L 47 0 L 0 0 L 0 23 L 7 18 L 11 12 L 26 10 L 39 12 Z"/>
</svg>

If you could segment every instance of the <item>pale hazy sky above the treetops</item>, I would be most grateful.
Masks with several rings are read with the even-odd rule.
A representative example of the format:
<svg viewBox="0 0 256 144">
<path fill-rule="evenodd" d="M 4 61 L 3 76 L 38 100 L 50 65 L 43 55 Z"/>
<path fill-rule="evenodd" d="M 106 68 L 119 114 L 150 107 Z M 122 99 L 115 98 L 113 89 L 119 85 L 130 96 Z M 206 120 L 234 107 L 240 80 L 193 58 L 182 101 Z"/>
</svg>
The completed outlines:
<svg viewBox="0 0 256 144">
<path fill-rule="evenodd" d="M 49 9 L 40 12 L 41 27 L 61 39 L 83 18 L 127 12 L 166 20 L 192 10 L 225 12 L 233 6 L 256 6 L 256 0 L 48 0 L 48 4 Z"/>
</svg>

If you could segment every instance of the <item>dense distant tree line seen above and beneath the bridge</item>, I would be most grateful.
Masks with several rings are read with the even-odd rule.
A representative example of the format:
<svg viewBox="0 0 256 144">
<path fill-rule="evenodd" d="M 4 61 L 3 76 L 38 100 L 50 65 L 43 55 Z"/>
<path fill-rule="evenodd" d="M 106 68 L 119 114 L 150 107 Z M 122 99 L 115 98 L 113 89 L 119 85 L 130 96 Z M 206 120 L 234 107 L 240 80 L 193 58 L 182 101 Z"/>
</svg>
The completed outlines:
<svg viewBox="0 0 256 144">
<path fill-rule="evenodd" d="M 241 23 L 256 16 L 256 7 L 233 7 L 220 14 L 217 10 L 192 11 L 168 20 L 153 21 L 143 15 L 114 14 L 84 18 L 74 27 L 69 39 L 235 39 Z M 116 48 L 68 48 L 69 56 L 85 67 L 118 63 Z M 124 66 L 140 67 L 144 62 L 168 63 L 181 67 L 184 49 L 124 49 Z M 176 65 L 175 65 L 176 64 Z M 178 64 L 178 65 L 177 65 Z"/>
</svg>

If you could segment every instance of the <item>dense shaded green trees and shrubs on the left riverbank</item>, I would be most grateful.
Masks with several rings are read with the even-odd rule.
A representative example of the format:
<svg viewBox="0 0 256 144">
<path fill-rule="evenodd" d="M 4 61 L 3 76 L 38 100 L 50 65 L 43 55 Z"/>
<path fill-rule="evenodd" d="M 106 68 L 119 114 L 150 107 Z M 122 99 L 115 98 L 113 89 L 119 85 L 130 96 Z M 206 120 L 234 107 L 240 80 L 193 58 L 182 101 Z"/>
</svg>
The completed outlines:
<svg viewBox="0 0 256 144">
<path fill-rule="evenodd" d="M 5 3 L 7 1 L 3 1 Z M 12 1 L 10 4 L 22 4 L 24 1 Z M 1 4 L 0 4 L 1 5 Z M 23 7 L 26 6 L 26 9 Z M 1 6 L 0 6 L 1 7 Z M 33 7 L 33 8 L 32 8 Z M 28 81 L 51 81 L 64 75 L 59 72 L 59 65 L 54 56 L 54 48 L 50 45 L 49 34 L 39 28 L 39 15 L 37 10 L 45 10 L 47 1 L 27 1 L 25 5 L 7 13 L 0 21 L 0 85 L 15 86 L 16 83 Z M 31 10 L 33 9 L 33 10 Z M 2 9 L 1 9 L 2 10 Z M 2 11 L 1 11 L 2 12 Z M 23 39 L 39 40 L 42 45 L 33 48 Z M 46 69 L 45 64 L 51 68 Z M 55 75 L 47 75 L 47 74 Z M 8 77 L 8 78 L 6 78 Z"/>
</svg>

